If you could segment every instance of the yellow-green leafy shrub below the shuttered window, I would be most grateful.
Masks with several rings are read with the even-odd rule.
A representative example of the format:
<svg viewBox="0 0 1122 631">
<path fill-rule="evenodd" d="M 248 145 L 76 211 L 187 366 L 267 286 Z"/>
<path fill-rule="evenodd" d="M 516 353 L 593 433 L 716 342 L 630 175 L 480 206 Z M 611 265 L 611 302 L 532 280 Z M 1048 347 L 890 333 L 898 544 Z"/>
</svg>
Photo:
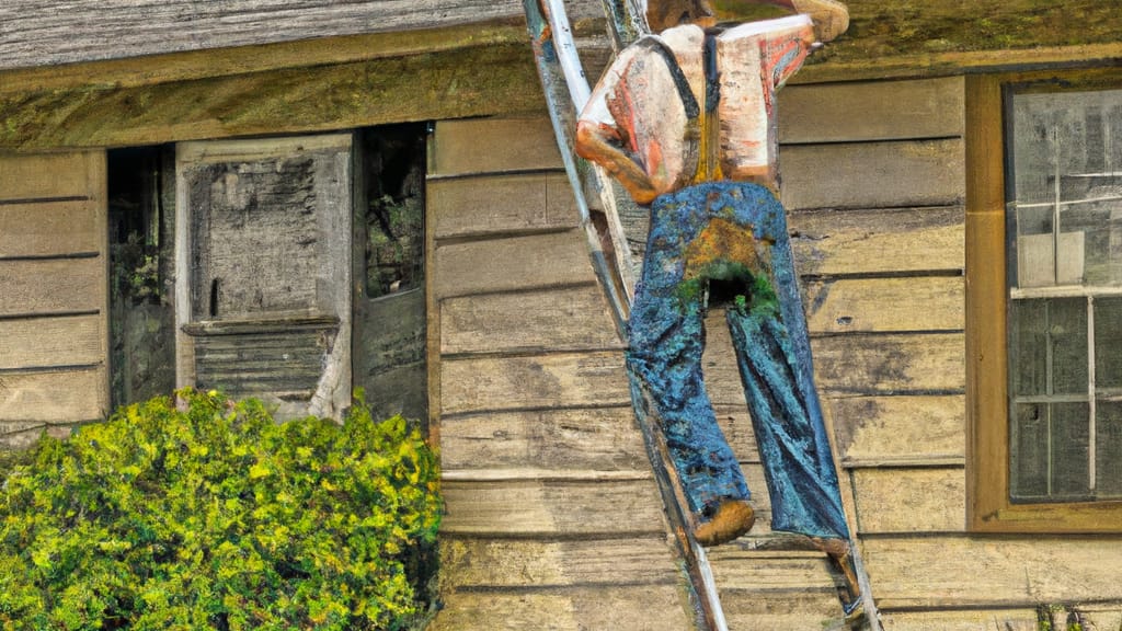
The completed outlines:
<svg viewBox="0 0 1122 631">
<path fill-rule="evenodd" d="M 361 404 L 276 424 L 256 401 L 178 395 L 6 460 L 2 629 L 416 623 L 441 504 L 415 430 Z"/>
</svg>

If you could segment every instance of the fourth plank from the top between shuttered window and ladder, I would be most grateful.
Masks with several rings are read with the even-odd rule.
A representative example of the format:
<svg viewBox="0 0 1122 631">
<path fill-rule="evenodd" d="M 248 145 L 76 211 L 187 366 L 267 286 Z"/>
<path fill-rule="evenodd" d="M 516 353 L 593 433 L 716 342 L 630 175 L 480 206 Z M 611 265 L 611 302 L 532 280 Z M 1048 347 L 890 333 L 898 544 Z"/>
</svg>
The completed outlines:
<svg viewBox="0 0 1122 631">
<path fill-rule="evenodd" d="M 442 353 L 622 348 L 597 285 L 447 299 Z"/>
</svg>

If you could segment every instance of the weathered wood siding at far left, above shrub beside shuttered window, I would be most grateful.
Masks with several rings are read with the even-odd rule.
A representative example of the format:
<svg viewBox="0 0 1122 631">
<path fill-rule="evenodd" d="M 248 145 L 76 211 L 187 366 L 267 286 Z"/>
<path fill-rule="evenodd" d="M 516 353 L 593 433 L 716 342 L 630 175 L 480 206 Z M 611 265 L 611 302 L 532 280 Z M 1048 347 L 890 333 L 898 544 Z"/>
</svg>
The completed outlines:
<svg viewBox="0 0 1122 631">
<path fill-rule="evenodd" d="M 104 152 L 0 155 L 0 446 L 109 410 Z"/>
</svg>

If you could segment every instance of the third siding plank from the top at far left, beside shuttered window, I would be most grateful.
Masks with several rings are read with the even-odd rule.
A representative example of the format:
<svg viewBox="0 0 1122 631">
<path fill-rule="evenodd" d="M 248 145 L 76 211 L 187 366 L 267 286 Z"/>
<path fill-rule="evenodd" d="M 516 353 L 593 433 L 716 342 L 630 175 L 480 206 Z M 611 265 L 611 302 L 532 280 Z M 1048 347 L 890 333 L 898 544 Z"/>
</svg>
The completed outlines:
<svg viewBox="0 0 1122 631">
<path fill-rule="evenodd" d="M 0 316 L 101 310 L 104 266 L 101 257 L 0 260 Z"/>
</svg>

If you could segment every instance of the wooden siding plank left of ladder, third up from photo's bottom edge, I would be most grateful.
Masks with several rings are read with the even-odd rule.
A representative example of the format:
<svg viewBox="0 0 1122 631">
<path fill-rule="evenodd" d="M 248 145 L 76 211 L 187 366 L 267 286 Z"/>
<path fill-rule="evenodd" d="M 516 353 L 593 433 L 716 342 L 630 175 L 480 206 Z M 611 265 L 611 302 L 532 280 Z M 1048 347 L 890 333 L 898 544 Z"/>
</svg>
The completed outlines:
<svg viewBox="0 0 1122 631">
<path fill-rule="evenodd" d="M 654 479 L 453 482 L 441 485 L 445 536 L 665 536 Z M 587 537 L 586 537 L 587 538 Z"/>
</svg>

